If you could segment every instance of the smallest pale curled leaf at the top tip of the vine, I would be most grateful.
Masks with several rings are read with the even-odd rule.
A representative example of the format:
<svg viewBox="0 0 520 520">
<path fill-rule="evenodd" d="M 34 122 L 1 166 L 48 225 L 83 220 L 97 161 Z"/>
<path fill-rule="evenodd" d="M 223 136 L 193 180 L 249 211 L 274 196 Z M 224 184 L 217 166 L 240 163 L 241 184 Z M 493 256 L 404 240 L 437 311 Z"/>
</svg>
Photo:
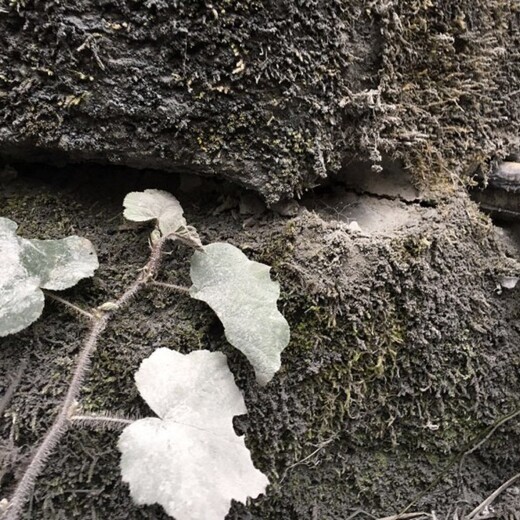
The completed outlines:
<svg viewBox="0 0 520 520">
<path fill-rule="evenodd" d="M 156 220 L 163 236 L 186 226 L 179 201 L 167 191 L 134 191 L 125 197 L 123 206 L 126 219 L 134 222 Z"/>
</svg>

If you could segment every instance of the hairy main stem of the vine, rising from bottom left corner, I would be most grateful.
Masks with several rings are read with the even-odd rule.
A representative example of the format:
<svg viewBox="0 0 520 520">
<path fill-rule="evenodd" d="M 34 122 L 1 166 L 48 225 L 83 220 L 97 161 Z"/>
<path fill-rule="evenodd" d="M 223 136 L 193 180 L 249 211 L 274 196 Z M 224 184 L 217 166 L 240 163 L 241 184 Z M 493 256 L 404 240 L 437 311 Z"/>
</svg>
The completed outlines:
<svg viewBox="0 0 520 520">
<path fill-rule="evenodd" d="M 161 264 L 162 250 L 165 242 L 166 238 L 162 237 L 152 244 L 148 262 L 132 285 L 113 303 L 109 311 L 96 310 L 96 312 L 92 314 L 90 330 L 78 355 L 76 368 L 72 375 L 65 399 L 61 404 L 60 411 L 54 423 L 45 434 L 43 441 L 36 449 L 21 479 L 18 481 L 7 508 L 0 517 L 1 520 L 18 520 L 20 517 L 23 507 L 34 489 L 36 479 L 45 467 L 49 456 L 72 423 L 75 404 L 90 368 L 92 354 L 96 350 L 101 334 L 107 328 L 114 313 L 127 306 L 140 290 L 153 280 Z"/>
</svg>

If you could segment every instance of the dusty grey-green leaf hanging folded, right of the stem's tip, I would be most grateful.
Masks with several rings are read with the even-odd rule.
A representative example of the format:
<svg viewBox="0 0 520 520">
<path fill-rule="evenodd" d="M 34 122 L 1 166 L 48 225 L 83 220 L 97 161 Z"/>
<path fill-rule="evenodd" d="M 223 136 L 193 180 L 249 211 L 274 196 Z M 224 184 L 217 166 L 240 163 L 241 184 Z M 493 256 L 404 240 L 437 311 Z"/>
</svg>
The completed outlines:
<svg viewBox="0 0 520 520">
<path fill-rule="evenodd" d="M 240 249 L 214 243 L 191 260 L 190 294 L 205 301 L 222 321 L 226 338 L 243 352 L 260 384 L 280 368 L 280 354 L 289 343 L 289 325 L 276 307 L 280 286 L 270 267 L 253 262 Z"/>
</svg>

